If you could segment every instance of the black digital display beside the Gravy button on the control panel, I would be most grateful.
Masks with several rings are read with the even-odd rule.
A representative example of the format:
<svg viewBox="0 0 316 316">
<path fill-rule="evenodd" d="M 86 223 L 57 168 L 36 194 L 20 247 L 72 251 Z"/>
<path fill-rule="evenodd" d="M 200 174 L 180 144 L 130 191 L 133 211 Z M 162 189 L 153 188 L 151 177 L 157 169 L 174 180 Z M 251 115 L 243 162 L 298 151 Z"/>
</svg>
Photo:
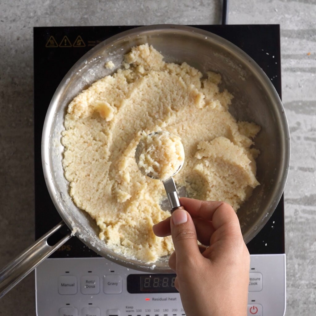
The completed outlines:
<svg viewBox="0 0 316 316">
<path fill-rule="evenodd" d="M 176 274 L 130 274 L 127 276 L 129 293 L 177 293 Z"/>
</svg>

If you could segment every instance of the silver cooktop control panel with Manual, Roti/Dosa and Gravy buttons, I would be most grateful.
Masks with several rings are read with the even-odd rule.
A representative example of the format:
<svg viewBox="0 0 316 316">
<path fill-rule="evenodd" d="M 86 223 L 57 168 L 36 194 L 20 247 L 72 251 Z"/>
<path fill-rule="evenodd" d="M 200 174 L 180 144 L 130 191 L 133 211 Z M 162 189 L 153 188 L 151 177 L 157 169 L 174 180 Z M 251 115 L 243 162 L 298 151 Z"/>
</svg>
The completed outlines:
<svg viewBox="0 0 316 316">
<path fill-rule="evenodd" d="M 175 274 L 131 270 L 105 258 L 59 258 L 46 259 L 35 275 L 38 316 L 185 316 Z M 247 310 L 285 314 L 285 254 L 251 255 Z"/>
</svg>

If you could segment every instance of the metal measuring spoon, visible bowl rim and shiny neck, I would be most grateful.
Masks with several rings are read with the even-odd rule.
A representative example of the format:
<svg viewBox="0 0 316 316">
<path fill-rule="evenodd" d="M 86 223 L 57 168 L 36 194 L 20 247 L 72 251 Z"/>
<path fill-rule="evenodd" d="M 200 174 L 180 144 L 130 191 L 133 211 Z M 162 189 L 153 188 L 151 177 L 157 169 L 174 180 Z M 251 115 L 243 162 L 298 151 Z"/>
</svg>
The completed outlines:
<svg viewBox="0 0 316 316">
<path fill-rule="evenodd" d="M 154 132 L 154 133 L 149 134 L 148 136 L 156 135 L 156 134 L 159 134 L 159 133 L 160 132 Z M 136 151 L 135 151 L 135 159 L 136 159 L 136 162 L 137 162 L 137 166 L 138 166 L 138 163 L 139 163 L 139 156 L 142 153 L 143 145 L 144 145 L 143 144 L 143 140 L 141 139 L 140 142 L 138 143 L 138 145 L 136 147 Z M 182 166 L 183 166 L 183 162 L 179 166 L 177 171 L 175 173 L 173 173 L 173 175 L 170 178 L 168 178 L 167 180 L 162 180 L 163 185 L 164 185 L 165 190 L 166 190 L 166 193 L 167 193 L 168 201 L 169 201 L 170 208 L 171 208 L 171 213 L 181 206 L 180 201 L 179 201 L 177 188 L 176 188 L 176 185 L 175 185 L 172 177 L 174 175 L 176 175 L 180 171 Z M 142 170 L 140 170 L 140 171 L 143 173 Z M 161 180 L 161 179 L 155 177 L 152 173 L 147 173 L 147 174 L 144 174 L 144 175 L 146 175 L 146 176 L 148 176 L 149 178 L 152 178 L 152 179 Z"/>
</svg>

